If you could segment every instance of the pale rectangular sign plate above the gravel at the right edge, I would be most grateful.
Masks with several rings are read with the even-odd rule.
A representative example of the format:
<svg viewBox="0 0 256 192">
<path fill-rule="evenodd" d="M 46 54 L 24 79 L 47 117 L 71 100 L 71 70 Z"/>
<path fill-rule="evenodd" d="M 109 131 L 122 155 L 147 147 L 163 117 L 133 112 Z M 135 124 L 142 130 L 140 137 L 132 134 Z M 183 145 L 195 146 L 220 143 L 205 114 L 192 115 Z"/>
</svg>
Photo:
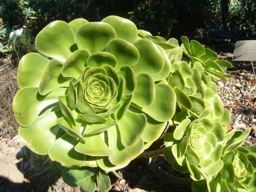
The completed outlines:
<svg viewBox="0 0 256 192">
<path fill-rule="evenodd" d="M 256 61 L 256 40 L 237 41 L 232 61 Z"/>
</svg>

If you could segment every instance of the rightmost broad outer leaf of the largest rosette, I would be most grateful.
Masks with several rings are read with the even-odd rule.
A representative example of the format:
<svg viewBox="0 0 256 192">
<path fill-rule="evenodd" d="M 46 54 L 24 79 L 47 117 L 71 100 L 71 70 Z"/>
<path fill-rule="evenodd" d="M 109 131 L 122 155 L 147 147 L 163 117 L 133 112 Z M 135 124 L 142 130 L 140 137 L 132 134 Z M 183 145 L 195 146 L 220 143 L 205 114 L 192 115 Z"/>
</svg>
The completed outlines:
<svg viewBox="0 0 256 192">
<path fill-rule="evenodd" d="M 143 107 L 142 111 L 156 121 L 164 122 L 171 119 L 175 113 L 176 95 L 170 85 L 157 84 L 155 89 L 154 102 L 148 107 Z"/>
</svg>

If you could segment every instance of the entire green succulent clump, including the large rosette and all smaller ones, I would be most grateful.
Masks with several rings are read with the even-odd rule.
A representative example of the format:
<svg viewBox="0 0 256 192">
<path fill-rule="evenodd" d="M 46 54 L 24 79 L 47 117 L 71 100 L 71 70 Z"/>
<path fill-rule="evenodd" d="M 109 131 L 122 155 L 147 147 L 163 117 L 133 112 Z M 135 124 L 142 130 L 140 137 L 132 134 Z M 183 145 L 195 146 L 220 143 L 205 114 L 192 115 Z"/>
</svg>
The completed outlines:
<svg viewBox="0 0 256 192">
<path fill-rule="evenodd" d="M 108 172 L 149 148 L 167 125 L 165 158 L 190 172 L 194 191 L 255 191 L 250 129 L 228 132 L 215 82 L 228 61 L 187 37 L 165 40 L 130 20 L 54 21 L 22 57 L 13 100 L 19 135 L 49 155 L 63 180 L 81 191 L 108 191 Z"/>
</svg>

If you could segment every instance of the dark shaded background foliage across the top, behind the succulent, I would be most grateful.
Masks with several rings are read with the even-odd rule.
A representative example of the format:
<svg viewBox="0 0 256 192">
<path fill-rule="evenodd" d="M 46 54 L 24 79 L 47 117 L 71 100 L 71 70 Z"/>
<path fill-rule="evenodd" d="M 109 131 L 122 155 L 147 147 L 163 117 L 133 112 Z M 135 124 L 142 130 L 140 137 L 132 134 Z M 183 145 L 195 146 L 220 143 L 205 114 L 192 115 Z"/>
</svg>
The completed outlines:
<svg viewBox="0 0 256 192">
<path fill-rule="evenodd" d="M 239 30 L 244 38 L 256 35 L 254 0 L 228 0 L 227 27 Z M 100 21 L 108 15 L 132 20 L 140 29 L 165 38 L 181 35 L 196 38 L 198 29 L 209 34 L 222 29 L 221 1 L 218 0 L 2 0 L 0 2 L 0 54 L 8 54 L 14 64 L 22 55 L 35 51 L 36 34 L 54 20 L 69 22 L 76 18 Z M 8 40 L 12 30 L 26 26 L 23 36 Z M 239 38 L 239 37 L 238 37 Z"/>
</svg>

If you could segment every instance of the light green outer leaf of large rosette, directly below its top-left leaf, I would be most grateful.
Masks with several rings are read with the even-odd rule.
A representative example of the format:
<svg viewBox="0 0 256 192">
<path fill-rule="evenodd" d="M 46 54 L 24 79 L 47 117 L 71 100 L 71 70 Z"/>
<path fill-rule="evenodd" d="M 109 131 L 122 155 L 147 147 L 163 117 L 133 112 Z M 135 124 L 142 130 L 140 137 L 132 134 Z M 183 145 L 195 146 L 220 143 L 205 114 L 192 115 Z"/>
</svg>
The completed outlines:
<svg viewBox="0 0 256 192">
<path fill-rule="evenodd" d="M 24 55 L 18 67 L 17 81 L 20 88 L 27 86 L 39 86 L 44 68 L 49 59 L 38 53 Z"/>
</svg>

